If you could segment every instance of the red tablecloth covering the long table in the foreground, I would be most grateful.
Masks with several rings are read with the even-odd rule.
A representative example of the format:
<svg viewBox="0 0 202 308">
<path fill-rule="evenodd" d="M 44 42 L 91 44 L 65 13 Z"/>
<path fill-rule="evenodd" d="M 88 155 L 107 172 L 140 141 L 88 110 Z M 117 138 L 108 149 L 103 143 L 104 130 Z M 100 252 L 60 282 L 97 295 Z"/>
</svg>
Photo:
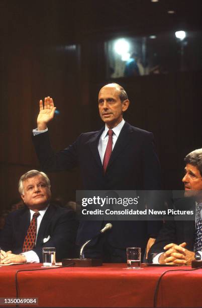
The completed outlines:
<svg viewBox="0 0 202 308">
<path fill-rule="evenodd" d="M 15 273 L 22 269 L 41 269 L 41 264 L 1 267 L 0 297 L 16 297 Z M 19 297 L 38 297 L 38 306 L 42 307 L 153 307 L 157 280 L 170 269 L 190 267 L 128 270 L 126 264 L 104 264 L 20 272 Z M 201 282 L 202 269 L 166 273 L 157 306 L 201 307 Z"/>
</svg>

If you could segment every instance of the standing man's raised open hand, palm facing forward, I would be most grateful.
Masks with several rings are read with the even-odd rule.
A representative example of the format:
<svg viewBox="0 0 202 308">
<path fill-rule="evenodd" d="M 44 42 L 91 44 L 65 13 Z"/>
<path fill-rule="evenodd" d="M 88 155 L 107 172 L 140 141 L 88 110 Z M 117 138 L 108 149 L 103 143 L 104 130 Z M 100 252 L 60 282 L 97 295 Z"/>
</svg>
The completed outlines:
<svg viewBox="0 0 202 308">
<path fill-rule="evenodd" d="M 56 107 L 54 107 L 53 99 L 50 96 L 45 97 L 44 106 L 43 101 L 40 100 L 39 109 L 37 128 L 38 130 L 45 130 L 47 128 L 47 123 L 54 118 Z"/>
</svg>

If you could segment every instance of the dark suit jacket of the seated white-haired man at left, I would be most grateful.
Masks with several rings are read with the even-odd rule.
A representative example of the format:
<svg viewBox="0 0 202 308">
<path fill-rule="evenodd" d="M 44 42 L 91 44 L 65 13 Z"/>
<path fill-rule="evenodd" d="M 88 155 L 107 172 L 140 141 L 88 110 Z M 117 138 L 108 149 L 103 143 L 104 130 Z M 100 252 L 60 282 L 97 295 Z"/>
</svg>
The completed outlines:
<svg viewBox="0 0 202 308">
<path fill-rule="evenodd" d="M 27 230 L 30 225 L 30 210 L 27 206 L 11 212 L 0 235 L 0 247 L 4 251 L 11 250 L 14 254 L 22 253 Z M 56 248 L 56 260 L 72 257 L 75 252 L 77 222 L 75 213 L 59 206 L 50 205 L 45 212 L 37 235 L 36 247 L 33 251 L 42 260 L 43 247 Z M 44 238 L 50 240 L 43 243 Z"/>
</svg>

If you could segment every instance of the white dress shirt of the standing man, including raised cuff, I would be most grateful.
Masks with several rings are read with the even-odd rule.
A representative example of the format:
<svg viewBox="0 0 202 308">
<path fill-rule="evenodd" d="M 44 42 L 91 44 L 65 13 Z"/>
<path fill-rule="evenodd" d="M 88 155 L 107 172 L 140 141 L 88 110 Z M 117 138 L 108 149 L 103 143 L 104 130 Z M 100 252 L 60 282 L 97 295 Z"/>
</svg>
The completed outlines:
<svg viewBox="0 0 202 308">
<path fill-rule="evenodd" d="M 112 128 L 112 130 L 114 132 L 114 134 L 112 136 L 112 150 L 115 146 L 115 143 L 117 142 L 119 134 L 120 134 L 120 132 L 121 132 L 123 126 L 124 126 L 124 123 L 125 123 L 125 121 L 124 121 L 124 119 L 122 119 L 122 121 L 117 126 Z M 108 130 L 109 129 L 110 128 L 107 127 L 107 124 L 105 124 L 105 130 L 103 131 L 102 135 L 99 138 L 99 143 L 98 143 L 98 147 L 97 147 L 102 164 L 103 164 L 105 151 L 106 151 L 107 144 L 108 144 L 108 139 L 109 139 Z M 37 128 L 33 129 L 33 135 L 34 136 L 39 135 L 41 133 L 46 132 L 47 130 L 48 130 L 48 128 L 46 128 L 45 130 L 38 130 Z"/>
</svg>

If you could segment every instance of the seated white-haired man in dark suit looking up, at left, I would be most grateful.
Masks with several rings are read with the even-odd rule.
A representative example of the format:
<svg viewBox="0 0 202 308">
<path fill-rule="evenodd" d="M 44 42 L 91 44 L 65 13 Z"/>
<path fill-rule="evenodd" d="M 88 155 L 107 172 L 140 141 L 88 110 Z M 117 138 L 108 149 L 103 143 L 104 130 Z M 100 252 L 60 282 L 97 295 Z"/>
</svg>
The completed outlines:
<svg viewBox="0 0 202 308">
<path fill-rule="evenodd" d="M 50 180 L 37 170 L 25 173 L 19 192 L 26 204 L 11 212 L 0 236 L 1 263 L 42 262 L 43 247 L 56 248 L 56 260 L 73 257 L 75 212 L 50 202 Z"/>
</svg>

